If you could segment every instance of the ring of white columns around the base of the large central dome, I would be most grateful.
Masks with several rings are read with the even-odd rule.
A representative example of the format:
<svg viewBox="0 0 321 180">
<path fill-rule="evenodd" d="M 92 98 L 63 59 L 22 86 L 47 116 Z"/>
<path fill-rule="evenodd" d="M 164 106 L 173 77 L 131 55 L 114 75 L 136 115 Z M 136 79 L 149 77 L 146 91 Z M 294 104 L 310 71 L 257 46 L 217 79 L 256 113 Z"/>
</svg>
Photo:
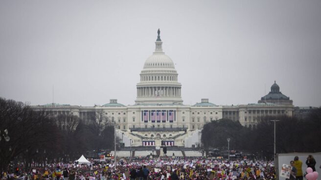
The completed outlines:
<svg viewBox="0 0 321 180">
<path fill-rule="evenodd" d="M 137 97 L 181 97 L 180 87 L 140 87 L 137 88 Z"/>
</svg>

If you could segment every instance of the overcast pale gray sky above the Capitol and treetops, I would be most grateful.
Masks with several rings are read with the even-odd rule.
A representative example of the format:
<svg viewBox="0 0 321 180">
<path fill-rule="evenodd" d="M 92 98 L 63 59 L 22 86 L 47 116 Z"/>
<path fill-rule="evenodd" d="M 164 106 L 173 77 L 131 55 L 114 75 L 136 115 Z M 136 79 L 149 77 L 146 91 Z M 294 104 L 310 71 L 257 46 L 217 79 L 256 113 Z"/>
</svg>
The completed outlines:
<svg viewBox="0 0 321 180">
<path fill-rule="evenodd" d="M 321 106 L 320 0 L 0 0 L 0 96 L 132 105 L 158 28 L 184 104 Z"/>
</svg>

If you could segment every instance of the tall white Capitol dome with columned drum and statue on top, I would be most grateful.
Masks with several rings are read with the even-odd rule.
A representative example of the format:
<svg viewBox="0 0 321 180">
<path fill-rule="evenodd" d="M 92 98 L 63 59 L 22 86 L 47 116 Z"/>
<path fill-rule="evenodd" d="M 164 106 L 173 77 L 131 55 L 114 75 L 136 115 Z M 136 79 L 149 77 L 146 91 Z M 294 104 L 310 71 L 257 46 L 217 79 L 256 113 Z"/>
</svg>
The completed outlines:
<svg viewBox="0 0 321 180">
<path fill-rule="evenodd" d="M 136 104 L 182 104 L 181 83 L 170 57 L 165 55 L 160 40 L 160 29 L 155 52 L 147 58 L 137 84 Z"/>
</svg>

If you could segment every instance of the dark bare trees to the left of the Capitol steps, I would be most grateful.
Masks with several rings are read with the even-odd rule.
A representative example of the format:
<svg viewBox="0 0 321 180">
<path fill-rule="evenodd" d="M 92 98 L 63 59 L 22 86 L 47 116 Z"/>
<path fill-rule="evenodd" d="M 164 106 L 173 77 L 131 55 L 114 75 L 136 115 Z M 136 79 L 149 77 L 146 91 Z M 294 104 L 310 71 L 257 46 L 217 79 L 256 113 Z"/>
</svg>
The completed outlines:
<svg viewBox="0 0 321 180">
<path fill-rule="evenodd" d="M 3 137 L 7 130 L 9 141 Z M 49 115 L 30 106 L 0 98 L 0 170 L 10 162 L 72 161 L 87 152 L 114 148 L 114 126 L 102 111 L 87 119 L 72 114 Z"/>
</svg>

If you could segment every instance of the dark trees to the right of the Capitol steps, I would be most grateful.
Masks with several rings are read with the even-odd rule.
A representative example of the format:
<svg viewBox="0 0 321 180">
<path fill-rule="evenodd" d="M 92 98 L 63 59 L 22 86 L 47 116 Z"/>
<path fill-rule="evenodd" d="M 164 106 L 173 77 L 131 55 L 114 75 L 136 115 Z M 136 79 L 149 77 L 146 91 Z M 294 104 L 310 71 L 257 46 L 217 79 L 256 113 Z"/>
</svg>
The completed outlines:
<svg viewBox="0 0 321 180">
<path fill-rule="evenodd" d="M 229 149 L 273 158 L 274 121 L 276 122 L 276 153 L 321 152 L 321 108 L 313 110 L 305 119 L 289 116 L 262 117 L 256 128 L 247 128 L 239 121 L 220 119 L 204 125 L 203 148 L 208 155 L 212 149 Z"/>
</svg>

